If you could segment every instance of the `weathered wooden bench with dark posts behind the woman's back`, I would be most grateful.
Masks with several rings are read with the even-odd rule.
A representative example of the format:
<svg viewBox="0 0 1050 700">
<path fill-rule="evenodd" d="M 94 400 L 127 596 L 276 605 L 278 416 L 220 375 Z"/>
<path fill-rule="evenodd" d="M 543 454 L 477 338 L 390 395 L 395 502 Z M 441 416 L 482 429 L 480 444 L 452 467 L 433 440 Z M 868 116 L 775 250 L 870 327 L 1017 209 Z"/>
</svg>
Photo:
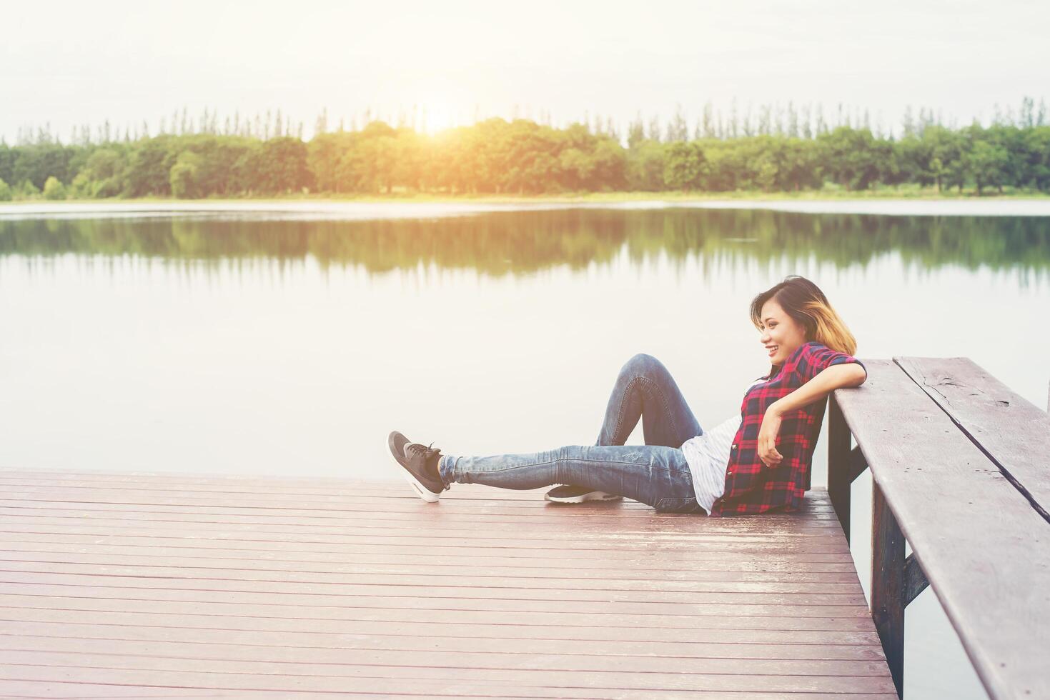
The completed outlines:
<svg viewBox="0 0 1050 700">
<path fill-rule="evenodd" d="M 967 358 L 865 364 L 830 398 L 828 494 L 848 538 L 872 470 L 869 604 L 898 694 L 928 584 L 990 697 L 1050 698 L 1050 417 Z"/>
</svg>

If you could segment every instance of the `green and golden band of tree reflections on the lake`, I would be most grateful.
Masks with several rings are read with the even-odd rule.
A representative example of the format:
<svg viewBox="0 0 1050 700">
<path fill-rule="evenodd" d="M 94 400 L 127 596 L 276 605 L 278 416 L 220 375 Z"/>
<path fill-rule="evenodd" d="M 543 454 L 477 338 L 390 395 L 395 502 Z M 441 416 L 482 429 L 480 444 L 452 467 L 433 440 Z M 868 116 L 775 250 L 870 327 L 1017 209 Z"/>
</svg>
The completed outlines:
<svg viewBox="0 0 1050 700">
<path fill-rule="evenodd" d="M 315 259 L 321 268 L 370 273 L 420 263 L 489 276 L 554 266 L 608 267 L 626 250 L 634 263 L 654 256 L 836 268 L 886 253 L 906 268 L 960 266 L 1013 271 L 1018 283 L 1050 270 L 1044 217 L 932 217 L 798 214 L 748 210 L 555 210 L 430 219 L 288 220 L 259 215 L 170 218 L 0 220 L 0 255 L 142 255 L 167 260 Z M 680 266 L 674 266 L 680 270 Z"/>
</svg>

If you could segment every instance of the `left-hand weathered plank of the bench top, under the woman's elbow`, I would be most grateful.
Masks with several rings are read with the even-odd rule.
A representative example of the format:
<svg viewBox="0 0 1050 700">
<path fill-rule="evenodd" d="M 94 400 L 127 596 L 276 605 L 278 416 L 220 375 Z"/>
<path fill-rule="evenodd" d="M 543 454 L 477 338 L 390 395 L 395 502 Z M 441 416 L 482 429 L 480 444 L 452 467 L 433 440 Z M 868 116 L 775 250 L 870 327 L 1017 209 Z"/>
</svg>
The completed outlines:
<svg viewBox="0 0 1050 700">
<path fill-rule="evenodd" d="M 897 364 L 867 364 L 836 400 L 978 675 L 1050 697 L 1050 524 Z"/>
</svg>

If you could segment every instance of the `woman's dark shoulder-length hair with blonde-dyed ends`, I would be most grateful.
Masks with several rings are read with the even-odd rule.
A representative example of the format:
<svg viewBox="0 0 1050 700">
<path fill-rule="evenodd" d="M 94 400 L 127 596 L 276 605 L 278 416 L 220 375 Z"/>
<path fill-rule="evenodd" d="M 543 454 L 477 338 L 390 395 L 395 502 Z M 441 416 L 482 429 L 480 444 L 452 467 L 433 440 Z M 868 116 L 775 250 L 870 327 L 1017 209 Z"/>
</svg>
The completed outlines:
<svg viewBox="0 0 1050 700">
<path fill-rule="evenodd" d="M 817 341 L 846 355 L 857 353 L 857 339 L 832 309 L 820 288 L 805 277 L 788 275 L 782 282 L 755 297 L 751 302 L 751 322 L 755 327 L 761 324 L 762 306 L 770 299 L 780 304 L 785 314 L 805 328 L 807 341 Z"/>
</svg>

